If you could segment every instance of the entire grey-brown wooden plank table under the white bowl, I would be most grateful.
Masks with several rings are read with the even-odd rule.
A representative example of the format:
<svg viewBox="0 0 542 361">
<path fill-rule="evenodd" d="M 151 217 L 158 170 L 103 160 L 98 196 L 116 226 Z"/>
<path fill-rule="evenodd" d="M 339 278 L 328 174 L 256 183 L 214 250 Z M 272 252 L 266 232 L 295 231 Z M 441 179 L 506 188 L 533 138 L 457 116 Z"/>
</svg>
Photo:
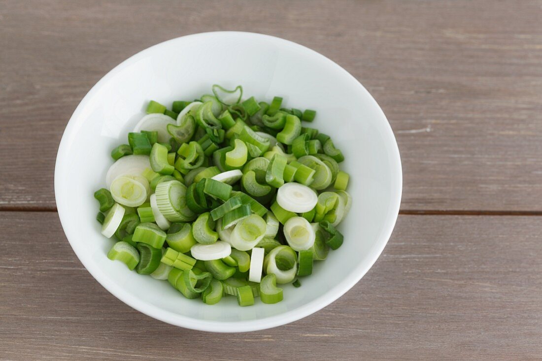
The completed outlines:
<svg viewBox="0 0 542 361">
<path fill-rule="evenodd" d="M 401 150 L 401 215 L 345 296 L 242 334 L 132 310 L 83 268 L 53 170 L 81 98 L 135 52 L 263 32 L 358 78 Z M 0 359 L 542 358 L 542 2 L 0 2 Z"/>
</svg>

